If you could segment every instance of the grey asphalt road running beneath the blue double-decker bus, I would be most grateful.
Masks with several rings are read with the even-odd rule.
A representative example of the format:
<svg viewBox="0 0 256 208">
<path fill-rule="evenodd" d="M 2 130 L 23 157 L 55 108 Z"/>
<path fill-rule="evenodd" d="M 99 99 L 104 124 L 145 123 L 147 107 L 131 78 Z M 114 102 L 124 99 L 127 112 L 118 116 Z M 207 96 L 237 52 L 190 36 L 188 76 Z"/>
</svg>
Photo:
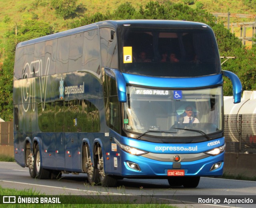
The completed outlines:
<svg viewBox="0 0 256 208">
<path fill-rule="evenodd" d="M 117 187 L 106 188 L 88 184 L 87 174 L 62 174 L 62 176 L 60 180 L 38 180 L 30 177 L 28 168 L 22 168 L 14 162 L 0 162 L 0 186 L 2 188 L 33 189 L 46 195 L 146 196 L 157 198 L 157 200 L 167 200 L 168 203 L 176 204 L 178 207 L 256 207 L 256 182 L 252 181 L 202 177 L 197 188 L 170 188 L 167 180 L 123 179 L 118 181 Z M 172 196 L 172 201 L 170 201 L 170 196 Z M 212 203 L 207 206 L 190 203 L 198 202 L 200 198 L 201 202 L 212 200 Z M 244 198 L 253 199 L 254 202 L 214 204 L 218 199 L 224 202 L 225 199 Z"/>
</svg>

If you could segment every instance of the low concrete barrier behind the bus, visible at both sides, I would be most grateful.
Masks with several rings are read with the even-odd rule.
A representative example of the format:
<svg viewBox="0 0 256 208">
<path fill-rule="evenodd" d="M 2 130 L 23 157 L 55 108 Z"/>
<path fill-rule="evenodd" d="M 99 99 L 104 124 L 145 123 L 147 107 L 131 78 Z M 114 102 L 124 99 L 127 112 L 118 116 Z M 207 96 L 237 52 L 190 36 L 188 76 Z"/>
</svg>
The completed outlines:
<svg viewBox="0 0 256 208">
<path fill-rule="evenodd" d="M 0 145 L 0 155 L 14 157 L 14 147 Z M 256 176 L 256 154 L 225 153 L 224 172 L 241 174 L 247 177 Z"/>
</svg>

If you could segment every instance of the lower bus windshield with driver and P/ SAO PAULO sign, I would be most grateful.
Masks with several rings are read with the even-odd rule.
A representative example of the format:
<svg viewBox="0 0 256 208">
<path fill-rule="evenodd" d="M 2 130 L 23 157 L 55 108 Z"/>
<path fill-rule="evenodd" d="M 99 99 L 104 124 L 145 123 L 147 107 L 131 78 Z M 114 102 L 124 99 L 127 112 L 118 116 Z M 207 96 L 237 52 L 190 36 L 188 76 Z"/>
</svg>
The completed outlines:
<svg viewBox="0 0 256 208">
<path fill-rule="evenodd" d="M 138 135 L 198 137 L 223 130 L 222 88 L 159 90 L 128 86 L 124 129 Z"/>
</svg>

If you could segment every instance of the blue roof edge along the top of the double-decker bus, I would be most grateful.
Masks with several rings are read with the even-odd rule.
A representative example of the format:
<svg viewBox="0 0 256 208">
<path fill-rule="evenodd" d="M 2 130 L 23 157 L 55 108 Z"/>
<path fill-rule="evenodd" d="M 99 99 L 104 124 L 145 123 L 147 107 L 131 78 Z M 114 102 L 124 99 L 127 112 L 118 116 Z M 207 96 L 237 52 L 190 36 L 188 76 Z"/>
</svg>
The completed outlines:
<svg viewBox="0 0 256 208">
<path fill-rule="evenodd" d="M 56 38 L 61 38 L 64 36 L 77 34 L 80 32 L 85 32 L 87 30 L 92 30 L 95 28 L 101 28 L 101 27 L 113 27 L 115 29 L 119 27 L 127 27 L 132 26 L 135 28 L 148 28 L 148 27 L 154 27 L 154 28 L 180 28 L 180 29 L 206 29 L 210 28 L 210 26 L 199 23 L 199 22 L 189 22 L 184 20 L 106 20 L 102 22 L 96 22 L 93 24 L 89 24 L 86 26 L 81 26 L 79 28 L 74 28 L 70 30 L 66 30 L 63 32 L 58 32 L 55 34 L 51 34 L 48 36 L 43 36 L 40 38 L 35 38 L 32 40 L 27 40 L 24 42 L 20 42 L 17 44 L 16 48 L 20 48 L 23 46 L 35 44 L 38 42 L 44 42 L 47 40 L 53 40 Z"/>
</svg>

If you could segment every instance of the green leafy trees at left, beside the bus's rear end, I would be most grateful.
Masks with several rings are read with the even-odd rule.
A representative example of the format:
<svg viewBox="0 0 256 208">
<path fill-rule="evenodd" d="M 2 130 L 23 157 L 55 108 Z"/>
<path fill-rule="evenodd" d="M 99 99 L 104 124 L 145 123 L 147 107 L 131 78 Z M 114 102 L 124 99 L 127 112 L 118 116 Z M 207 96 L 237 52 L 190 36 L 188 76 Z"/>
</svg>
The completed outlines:
<svg viewBox="0 0 256 208">
<path fill-rule="evenodd" d="M 1 118 L 10 121 L 13 117 L 12 111 L 12 81 L 14 56 L 17 42 L 38 38 L 53 33 L 50 24 L 36 20 L 24 21 L 21 25 L 15 25 L 6 33 L 6 58 L 0 68 L 0 115 Z"/>
</svg>

